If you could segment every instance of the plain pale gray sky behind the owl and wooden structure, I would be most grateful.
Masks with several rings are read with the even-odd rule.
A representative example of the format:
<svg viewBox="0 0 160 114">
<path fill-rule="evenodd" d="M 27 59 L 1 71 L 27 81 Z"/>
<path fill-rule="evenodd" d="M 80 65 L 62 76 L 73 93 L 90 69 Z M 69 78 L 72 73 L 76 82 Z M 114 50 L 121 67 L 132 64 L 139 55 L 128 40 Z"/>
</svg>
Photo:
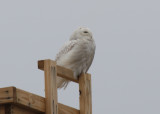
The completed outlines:
<svg viewBox="0 0 160 114">
<path fill-rule="evenodd" d="M 44 96 L 37 60 L 54 59 L 79 26 L 91 29 L 96 54 L 93 114 L 160 114 L 160 1 L 0 1 L 0 87 Z M 78 85 L 59 102 L 78 108 Z"/>
</svg>

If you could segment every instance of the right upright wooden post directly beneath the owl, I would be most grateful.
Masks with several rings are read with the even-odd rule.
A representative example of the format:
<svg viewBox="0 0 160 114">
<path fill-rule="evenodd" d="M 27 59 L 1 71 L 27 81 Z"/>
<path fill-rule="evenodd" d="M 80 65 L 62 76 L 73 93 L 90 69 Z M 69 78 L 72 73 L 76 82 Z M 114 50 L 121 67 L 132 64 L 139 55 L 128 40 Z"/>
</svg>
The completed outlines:
<svg viewBox="0 0 160 114">
<path fill-rule="evenodd" d="M 91 75 L 82 74 L 79 77 L 80 114 L 92 114 Z"/>
</svg>

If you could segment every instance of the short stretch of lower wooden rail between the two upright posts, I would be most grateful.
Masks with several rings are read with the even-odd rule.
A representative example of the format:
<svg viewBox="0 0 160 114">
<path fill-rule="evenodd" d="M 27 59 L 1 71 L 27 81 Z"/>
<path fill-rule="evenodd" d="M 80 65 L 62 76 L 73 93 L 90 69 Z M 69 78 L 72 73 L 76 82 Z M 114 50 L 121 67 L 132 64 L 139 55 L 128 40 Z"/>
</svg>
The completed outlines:
<svg viewBox="0 0 160 114">
<path fill-rule="evenodd" d="M 58 103 L 58 114 L 80 114 L 80 111 L 75 108 Z"/>
</svg>

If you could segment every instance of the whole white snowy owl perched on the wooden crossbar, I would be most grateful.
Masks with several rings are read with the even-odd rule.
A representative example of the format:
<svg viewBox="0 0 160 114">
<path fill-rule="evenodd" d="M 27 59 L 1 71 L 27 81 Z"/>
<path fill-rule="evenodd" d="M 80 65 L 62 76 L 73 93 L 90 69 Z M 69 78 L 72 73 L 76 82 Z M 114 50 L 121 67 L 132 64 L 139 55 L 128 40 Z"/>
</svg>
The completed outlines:
<svg viewBox="0 0 160 114">
<path fill-rule="evenodd" d="M 80 27 L 73 32 L 68 42 L 64 44 L 56 55 L 57 65 L 71 69 L 74 78 L 78 79 L 81 73 L 86 73 L 93 61 L 95 42 L 91 31 L 86 27 Z M 58 77 L 57 87 L 66 88 L 69 80 Z"/>
</svg>

